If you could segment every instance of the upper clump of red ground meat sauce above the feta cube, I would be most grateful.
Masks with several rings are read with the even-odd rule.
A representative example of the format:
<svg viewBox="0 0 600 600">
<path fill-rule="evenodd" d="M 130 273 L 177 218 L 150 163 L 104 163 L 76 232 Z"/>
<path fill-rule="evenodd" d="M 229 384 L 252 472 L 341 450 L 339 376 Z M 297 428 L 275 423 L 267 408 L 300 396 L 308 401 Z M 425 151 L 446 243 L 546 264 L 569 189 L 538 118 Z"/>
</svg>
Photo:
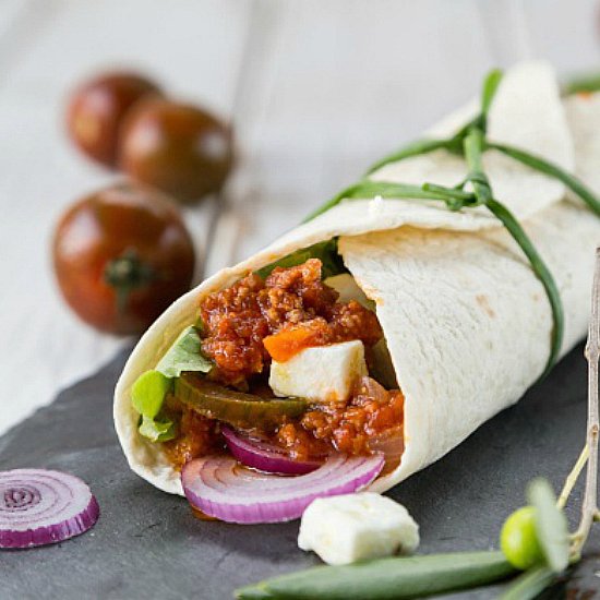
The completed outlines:
<svg viewBox="0 0 600 600">
<path fill-rule="evenodd" d="M 337 302 L 338 296 L 321 280 L 316 259 L 275 268 L 265 280 L 251 274 L 207 296 L 200 313 L 202 350 L 217 367 L 211 376 L 243 387 L 271 362 L 264 338 L 283 331 L 302 331 L 295 351 L 351 339 L 376 344 L 383 336 L 376 315 L 356 301 Z"/>
</svg>

